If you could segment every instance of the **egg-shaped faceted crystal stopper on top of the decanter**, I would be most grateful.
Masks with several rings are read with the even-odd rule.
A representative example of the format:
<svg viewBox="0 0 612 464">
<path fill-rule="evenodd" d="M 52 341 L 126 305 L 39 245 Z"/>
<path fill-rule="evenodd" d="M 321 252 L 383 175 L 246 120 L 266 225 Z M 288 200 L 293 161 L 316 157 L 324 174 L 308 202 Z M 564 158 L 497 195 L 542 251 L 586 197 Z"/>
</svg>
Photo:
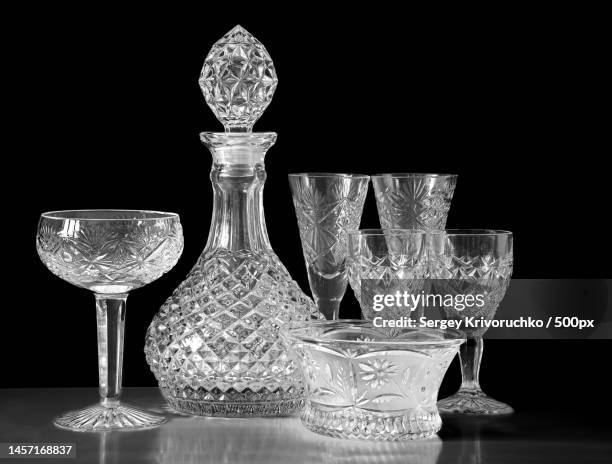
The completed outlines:
<svg viewBox="0 0 612 464">
<path fill-rule="evenodd" d="M 250 132 L 272 100 L 278 78 L 266 48 L 236 26 L 210 49 L 199 83 L 226 132 Z"/>
</svg>

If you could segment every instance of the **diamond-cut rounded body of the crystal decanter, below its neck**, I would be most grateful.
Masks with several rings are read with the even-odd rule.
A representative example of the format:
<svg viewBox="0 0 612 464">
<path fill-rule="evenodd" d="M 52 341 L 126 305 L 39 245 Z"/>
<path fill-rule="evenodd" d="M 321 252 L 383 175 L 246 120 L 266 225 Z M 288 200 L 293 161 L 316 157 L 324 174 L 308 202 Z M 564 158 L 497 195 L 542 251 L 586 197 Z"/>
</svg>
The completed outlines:
<svg viewBox="0 0 612 464">
<path fill-rule="evenodd" d="M 301 380 L 278 329 L 316 317 L 312 301 L 269 252 L 205 252 L 151 323 L 147 361 L 170 404 L 191 408 L 186 412 L 232 414 L 207 401 L 297 406 Z"/>
</svg>

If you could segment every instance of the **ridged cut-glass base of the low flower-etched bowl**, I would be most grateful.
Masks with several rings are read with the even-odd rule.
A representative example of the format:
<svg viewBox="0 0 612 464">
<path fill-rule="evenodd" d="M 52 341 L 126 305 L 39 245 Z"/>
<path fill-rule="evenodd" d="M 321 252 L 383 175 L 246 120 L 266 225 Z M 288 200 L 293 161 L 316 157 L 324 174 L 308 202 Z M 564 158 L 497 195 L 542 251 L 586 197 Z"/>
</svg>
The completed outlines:
<svg viewBox="0 0 612 464">
<path fill-rule="evenodd" d="M 307 429 L 321 435 L 375 441 L 428 438 L 442 426 L 435 407 L 376 412 L 354 406 L 331 409 L 308 400 L 301 419 Z"/>
</svg>

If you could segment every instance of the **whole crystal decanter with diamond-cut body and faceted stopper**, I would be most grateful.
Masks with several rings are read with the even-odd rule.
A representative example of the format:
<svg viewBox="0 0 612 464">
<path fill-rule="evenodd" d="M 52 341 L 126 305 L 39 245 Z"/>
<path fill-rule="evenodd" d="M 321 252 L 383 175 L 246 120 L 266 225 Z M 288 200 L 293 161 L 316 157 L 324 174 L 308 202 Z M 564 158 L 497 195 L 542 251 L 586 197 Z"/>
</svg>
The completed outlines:
<svg viewBox="0 0 612 464">
<path fill-rule="evenodd" d="M 304 387 L 278 331 L 322 316 L 266 231 L 264 157 L 276 134 L 251 128 L 272 99 L 276 71 L 265 47 L 236 26 L 213 45 L 199 82 L 225 126 L 201 134 L 213 157 L 213 217 L 202 255 L 151 322 L 147 362 L 179 412 L 291 414 Z"/>
</svg>

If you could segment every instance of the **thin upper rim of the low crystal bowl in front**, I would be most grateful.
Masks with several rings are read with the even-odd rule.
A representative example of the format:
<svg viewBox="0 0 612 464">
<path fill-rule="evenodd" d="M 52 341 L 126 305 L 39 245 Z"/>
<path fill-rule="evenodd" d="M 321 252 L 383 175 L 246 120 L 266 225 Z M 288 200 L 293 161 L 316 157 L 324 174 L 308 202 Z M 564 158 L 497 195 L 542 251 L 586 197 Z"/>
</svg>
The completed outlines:
<svg viewBox="0 0 612 464">
<path fill-rule="evenodd" d="M 300 336 L 295 333 L 298 330 L 305 329 L 308 327 L 317 327 L 317 326 L 325 326 L 333 324 L 357 324 L 357 325 L 366 325 L 372 324 L 372 321 L 365 319 L 335 319 L 335 320 L 315 320 L 315 321 L 306 321 L 301 322 L 296 325 L 284 326 L 281 328 L 281 333 L 283 333 L 286 337 L 298 340 L 301 343 L 310 343 L 316 345 L 330 345 L 330 344 L 346 344 L 346 345 L 370 345 L 374 347 L 381 346 L 396 346 L 396 347 L 452 347 L 459 346 L 466 340 L 466 335 L 463 331 L 457 329 L 435 329 L 435 328 L 406 328 L 404 330 L 415 331 L 415 332 L 427 332 L 427 333 L 444 333 L 446 335 L 450 335 L 449 338 L 444 338 L 442 340 L 336 340 L 333 338 L 319 338 L 319 337 L 310 337 L 310 336 Z M 374 329 L 378 329 L 379 327 L 373 327 Z"/>
</svg>

